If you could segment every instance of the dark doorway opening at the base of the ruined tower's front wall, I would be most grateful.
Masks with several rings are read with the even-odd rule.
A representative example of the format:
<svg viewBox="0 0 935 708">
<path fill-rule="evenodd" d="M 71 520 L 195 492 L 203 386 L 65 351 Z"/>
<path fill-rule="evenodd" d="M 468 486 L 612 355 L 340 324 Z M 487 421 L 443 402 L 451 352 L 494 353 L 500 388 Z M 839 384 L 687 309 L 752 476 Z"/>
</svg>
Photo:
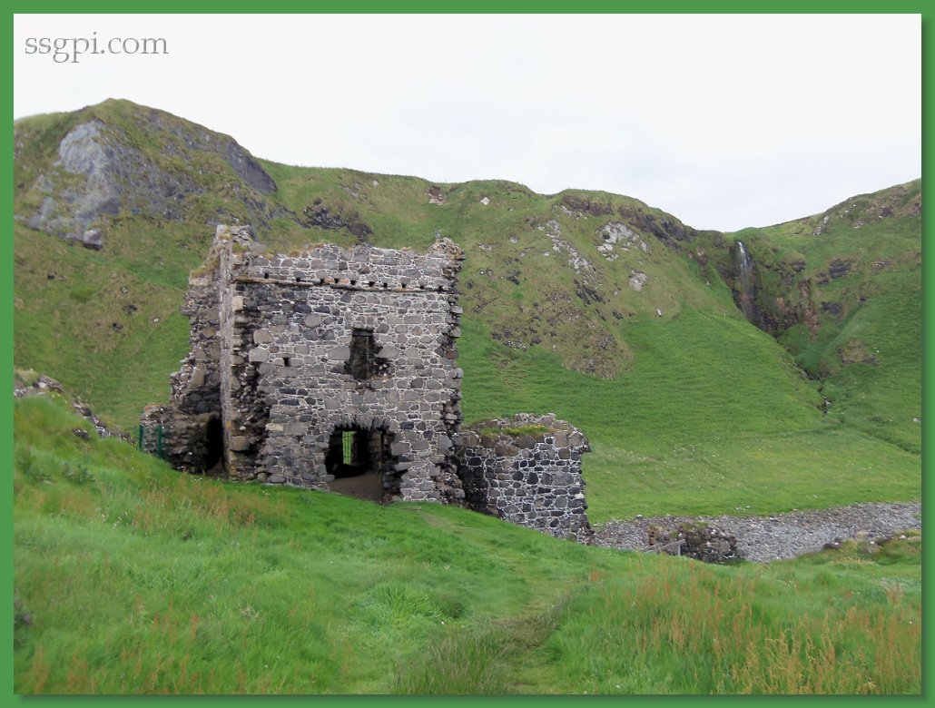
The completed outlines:
<svg viewBox="0 0 935 708">
<path fill-rule="evenodd" d="M 398 493 L 399 481 L 391 466 L 391 438 L 381 429 L 336 428 L 324 457 L 328 474 L 335 477 L 328 489 L 374 501 L 388 500 L 394 486 Z"/>
</svg>

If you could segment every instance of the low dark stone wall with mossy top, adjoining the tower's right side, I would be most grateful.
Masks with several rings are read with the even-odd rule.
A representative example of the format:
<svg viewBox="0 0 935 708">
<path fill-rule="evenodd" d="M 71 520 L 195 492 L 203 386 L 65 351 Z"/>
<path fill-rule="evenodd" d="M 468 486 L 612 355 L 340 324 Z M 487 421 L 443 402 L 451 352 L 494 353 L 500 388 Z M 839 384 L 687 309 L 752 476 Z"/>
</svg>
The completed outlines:
<svg viewBox="0 0 935 708">
<path fill-rule="evenodd" d="M 590 543 L 581 430 L 554 414 L 525 413 L 462 431 L 459 475 L 470 509 L 558 538 Z"/>
</svg>

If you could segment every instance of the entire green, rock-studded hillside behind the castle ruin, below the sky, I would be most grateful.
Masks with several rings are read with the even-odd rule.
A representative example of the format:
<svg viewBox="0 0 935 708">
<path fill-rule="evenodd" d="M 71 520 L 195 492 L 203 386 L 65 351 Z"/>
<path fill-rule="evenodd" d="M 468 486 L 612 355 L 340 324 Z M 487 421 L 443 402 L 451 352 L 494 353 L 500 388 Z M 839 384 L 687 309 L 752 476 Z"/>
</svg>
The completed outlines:
<svg viewBox="0 0 935 708">
<path fill-rule="evenodd" d="M 116 156 L 98 181 L 63 164 L 79 126 Z M 583 428 L 594 519 L 920 495 L 918 184 L 827 221 L 725 235 L 607 193 L 262 160 L 244 172 L 232 138 L 126 101 L 14 127 L 16 366 L 60 380 L 124 429 L 167 398 L 187 349 L 187 274 L 215 224 L 254 224 L 285 252 L 324 241 L 424 249 L 438 232 L 468 255 L 466 417 L 555 412 Z M 120 196 L 84 224 L 103 248 L 58 238 L 55 220 L 74 221 L 68 199 L 98 193 Z M 778 341 L 734 303 L 739 238 L 758 268 L 758 307 L 785 318 Z"/>
</svg>

